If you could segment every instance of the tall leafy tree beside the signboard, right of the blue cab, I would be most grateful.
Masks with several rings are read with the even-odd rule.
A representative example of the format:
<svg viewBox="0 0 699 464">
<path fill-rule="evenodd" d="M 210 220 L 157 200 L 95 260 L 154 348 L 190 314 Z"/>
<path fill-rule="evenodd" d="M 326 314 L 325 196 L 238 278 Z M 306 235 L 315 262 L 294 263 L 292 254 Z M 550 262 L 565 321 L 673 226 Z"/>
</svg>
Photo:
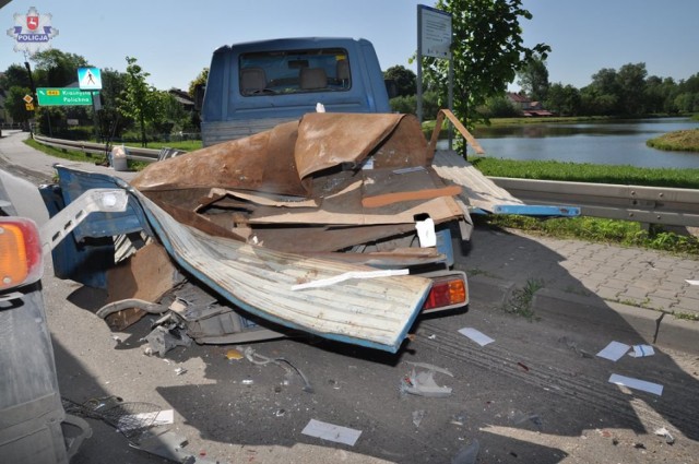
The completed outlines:
<svg viewBox="0 0 699 464">
<path fill-rule="evenodd" d="M 477 108 L 502 95 L 535 53 L 546 59 L 550 47 L 522 45 L 520 17 L 531 20 L 521 0 L 438 0 L 436 8 L 452 15 L 451 53 L 454 67 L 454 112 L 466 127 L 487 121 Z M 424 59 L 424 75 L 442 92 L 449 62 Z"/>
</svg>

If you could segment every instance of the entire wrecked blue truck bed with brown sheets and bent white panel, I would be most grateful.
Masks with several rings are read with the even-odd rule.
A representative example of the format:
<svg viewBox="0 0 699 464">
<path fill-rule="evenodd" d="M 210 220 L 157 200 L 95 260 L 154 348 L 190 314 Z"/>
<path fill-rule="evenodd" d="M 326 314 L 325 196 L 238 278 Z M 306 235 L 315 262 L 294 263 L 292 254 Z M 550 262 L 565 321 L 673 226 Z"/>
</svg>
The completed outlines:
<svg viewBox="0 0 699 464">
<path fill-rule="evenodd" d="M 308 114 L 155 163 L 131 185 L 57 166 L 49 212 L 106 187 L 127 190 L 129 207 L 78 227 L 55 271 L 107 288 L 99 314 L 117 326 L 152 312 L 180 341 L 292 330 L 395 353 L 420 311 L 469 302 L 452 269 L 469 207 L 433 156 L 413 116 Z"/>
</svg>

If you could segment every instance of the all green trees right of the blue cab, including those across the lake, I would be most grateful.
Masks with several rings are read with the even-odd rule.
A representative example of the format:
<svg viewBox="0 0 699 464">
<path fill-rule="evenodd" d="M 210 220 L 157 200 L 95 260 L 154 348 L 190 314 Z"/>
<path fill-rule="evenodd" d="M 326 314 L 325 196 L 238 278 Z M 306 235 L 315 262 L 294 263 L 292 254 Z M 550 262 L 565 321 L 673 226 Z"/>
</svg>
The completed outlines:
<svg viewBox="0 0 699 464">
<path fill-rule="evenodd" d="M 546 58 L 552 48 L 522 45 L 522 23 L 532 14 L 521 0 L 438 0 L 435 7 L 452 16 L 453 109 L 467 127 L 491 117 L 521 116 L 521 109 L 507 98 L 508 85 L 516 80 L 531 100 L 559 116 L 699 111 L 699 73 L 683 81 L 649 76 L 642 62 L 601 69 L 582 88 L 550 83 Z M 424 114 L 429 118 L 447 105 L 449 62 L 424 58 L 422 66 Z M 390 68 L 384 74 L 400 83 L 400 96 L 391 102 L 393 110 L 415 112 L 415 74 L 404 67 Z"/>
</svg>

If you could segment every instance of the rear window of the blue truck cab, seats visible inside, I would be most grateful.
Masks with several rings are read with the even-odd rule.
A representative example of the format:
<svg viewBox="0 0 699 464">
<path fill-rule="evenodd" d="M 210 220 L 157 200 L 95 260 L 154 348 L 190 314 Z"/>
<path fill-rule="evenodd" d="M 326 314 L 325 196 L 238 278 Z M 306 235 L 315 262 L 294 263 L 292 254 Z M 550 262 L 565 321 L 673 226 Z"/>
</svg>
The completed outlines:
<svg viewBox="0 0 699 464">
<path fill-rule="evenodd" d="M 244 96 L 342 92 L 352 87 L 347 50 L 342 48 L 242 53 L 238 66 Z"/>
</svg>

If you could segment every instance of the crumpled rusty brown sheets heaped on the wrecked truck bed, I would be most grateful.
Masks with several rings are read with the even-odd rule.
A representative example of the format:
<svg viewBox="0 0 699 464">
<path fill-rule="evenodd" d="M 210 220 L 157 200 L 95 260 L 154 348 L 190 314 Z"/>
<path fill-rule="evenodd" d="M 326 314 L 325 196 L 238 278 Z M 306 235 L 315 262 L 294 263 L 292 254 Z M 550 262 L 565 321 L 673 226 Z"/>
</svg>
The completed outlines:
<svg viewBox="0 0 699 464">
<path fill-rule="evenodd" d="M 153 164 L 131 185 L 206 234 L 319 253 L 467 218 L 430 162 L 413 116 L 319 112 Z"/>
</svg>

